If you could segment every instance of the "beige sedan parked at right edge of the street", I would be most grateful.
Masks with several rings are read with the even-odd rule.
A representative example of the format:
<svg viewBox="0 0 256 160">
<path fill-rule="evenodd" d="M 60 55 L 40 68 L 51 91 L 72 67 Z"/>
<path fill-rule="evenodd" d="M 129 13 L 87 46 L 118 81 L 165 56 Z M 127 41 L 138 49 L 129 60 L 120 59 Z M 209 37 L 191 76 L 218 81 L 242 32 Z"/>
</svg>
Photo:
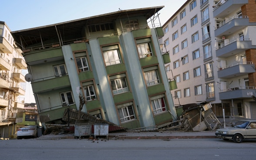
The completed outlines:
<svg viewBox="0 0 256 160">
<path fill-rule="evenodd" d="M 215 135 L 223 140 L 233 140 L 236 143 L 256 138 L 256 120 L 238 121 L 234 127 L 216 130 Z"/>
</svg>

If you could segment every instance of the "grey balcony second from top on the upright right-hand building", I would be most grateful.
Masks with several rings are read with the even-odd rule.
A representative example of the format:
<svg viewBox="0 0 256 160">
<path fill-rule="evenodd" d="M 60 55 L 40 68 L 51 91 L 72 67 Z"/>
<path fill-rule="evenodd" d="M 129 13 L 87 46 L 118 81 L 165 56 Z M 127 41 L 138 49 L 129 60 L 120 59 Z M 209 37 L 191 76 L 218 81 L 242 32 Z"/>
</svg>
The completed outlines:
<svg viewBox="0 0 256 160">
<path fill-rule="evenodd" d="M 249 26 L 248 16 L 237 16 L 226 20 L 214 31 L 215 37 L 221 37 L 222 35 L 230 35 L 238 30 L 241 30 L 245 26 Z"/>
</svg>

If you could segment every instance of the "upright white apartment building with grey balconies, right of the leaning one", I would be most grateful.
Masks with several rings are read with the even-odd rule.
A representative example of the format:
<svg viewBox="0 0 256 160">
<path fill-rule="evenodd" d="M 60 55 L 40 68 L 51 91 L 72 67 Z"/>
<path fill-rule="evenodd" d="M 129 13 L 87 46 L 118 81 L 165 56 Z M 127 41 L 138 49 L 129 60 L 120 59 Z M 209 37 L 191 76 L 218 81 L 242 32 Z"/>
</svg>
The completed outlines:
<svg viewBox="0 0 256 160">
<path fill-rule="evenodd" d="M 163 25 L 175 106 L 210 101 L 216 116 L 256 118 L 255 12 L 255 0 L 187 0 Z"/>
</svg>

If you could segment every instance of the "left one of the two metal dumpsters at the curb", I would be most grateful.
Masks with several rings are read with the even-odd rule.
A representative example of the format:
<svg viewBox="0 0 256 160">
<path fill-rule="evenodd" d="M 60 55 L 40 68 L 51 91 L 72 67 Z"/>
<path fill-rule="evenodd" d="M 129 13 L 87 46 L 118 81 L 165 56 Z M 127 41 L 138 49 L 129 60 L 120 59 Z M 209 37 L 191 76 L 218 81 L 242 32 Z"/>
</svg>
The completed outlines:
<svg viewBox="0 0 256 160">
<path fill-rule="evenodd" d="M 89 120 L 77 120 L 74 129 L 74 138 L 91 136 L 91 124 Z"/>
</svg>

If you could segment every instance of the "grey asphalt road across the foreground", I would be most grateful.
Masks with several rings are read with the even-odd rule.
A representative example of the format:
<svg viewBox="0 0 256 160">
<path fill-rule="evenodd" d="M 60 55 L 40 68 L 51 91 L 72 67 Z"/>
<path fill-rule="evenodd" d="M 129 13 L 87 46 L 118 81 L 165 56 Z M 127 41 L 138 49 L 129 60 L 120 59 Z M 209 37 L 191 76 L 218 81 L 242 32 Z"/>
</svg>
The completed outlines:
<svg viewBox="0 0 256 160">
<path fill-rule="evenodd" d="M 255 160 L 256 140 L 0 140 L 1 160 Z"/>
</svg>

